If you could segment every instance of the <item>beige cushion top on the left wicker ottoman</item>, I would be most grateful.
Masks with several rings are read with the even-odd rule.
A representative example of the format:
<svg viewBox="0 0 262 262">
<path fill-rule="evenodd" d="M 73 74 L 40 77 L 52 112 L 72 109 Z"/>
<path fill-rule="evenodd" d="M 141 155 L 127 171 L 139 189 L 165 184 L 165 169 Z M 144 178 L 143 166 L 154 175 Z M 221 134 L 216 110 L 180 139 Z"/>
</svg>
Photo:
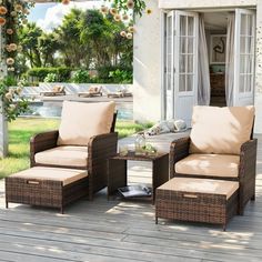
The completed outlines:
<svg viewBox="0 0 262 262">
<path fill-rule="evenodd" d="M 63 185 L 75 182 L 80 179 L 87 178 L 88 172 L 84 170 L 77 169 L 58 169 L 58 168 L 46 168 L 34 167 L 16 174 L 11 174 L 12 178 L 22 178 L 28 180 L 54 180 L 61 181 Z"/>
</svg>

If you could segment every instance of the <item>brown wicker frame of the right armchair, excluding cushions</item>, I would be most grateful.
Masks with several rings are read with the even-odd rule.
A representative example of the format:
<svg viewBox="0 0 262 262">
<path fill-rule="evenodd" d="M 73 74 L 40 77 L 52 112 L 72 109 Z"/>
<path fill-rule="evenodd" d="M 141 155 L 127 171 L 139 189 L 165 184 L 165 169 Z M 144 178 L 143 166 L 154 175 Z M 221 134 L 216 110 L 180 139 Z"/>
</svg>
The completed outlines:
<svg viewBox="0 0 262 262">
<path fill-rule="evenodd" d="M 194 128 L 194 127 L 193 127 Z M 256 139 L 253 139 L 253 128 L 251 130 L 250 140 L 243 142 L 240 148 L 240 162 L 238 168 L 238 177 L 218 177 L 218 175 L 200 175 L 198 173 L 181 173 L 175 171 L 175 164 L 190 155 L 191 138 L 182 138 L 173 141 L 170 148 L 170 178 L 198 178 L 198 179 L 222 179 L 239 181 L 239 209 L 238 213 L 243 214 L 244 206 L 249 200 L 255 199 L 255 167 L 256 167 Z M 223 167 L 221 167 L 222 169 Z"/>
</svg>

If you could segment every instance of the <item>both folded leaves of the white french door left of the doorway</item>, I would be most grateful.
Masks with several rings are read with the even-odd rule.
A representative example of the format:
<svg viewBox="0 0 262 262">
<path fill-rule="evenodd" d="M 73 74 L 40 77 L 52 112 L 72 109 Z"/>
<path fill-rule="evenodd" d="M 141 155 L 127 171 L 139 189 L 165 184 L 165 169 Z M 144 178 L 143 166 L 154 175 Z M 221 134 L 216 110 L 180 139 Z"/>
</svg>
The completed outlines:
<svg viewBox="0 0 262 262">
<path fill-rule="evenodd" d="M 171 11 L 167 16 L 165 117 L 183 119 L 191 125 L 198 100 L 199 16 Z"/>
</svg>

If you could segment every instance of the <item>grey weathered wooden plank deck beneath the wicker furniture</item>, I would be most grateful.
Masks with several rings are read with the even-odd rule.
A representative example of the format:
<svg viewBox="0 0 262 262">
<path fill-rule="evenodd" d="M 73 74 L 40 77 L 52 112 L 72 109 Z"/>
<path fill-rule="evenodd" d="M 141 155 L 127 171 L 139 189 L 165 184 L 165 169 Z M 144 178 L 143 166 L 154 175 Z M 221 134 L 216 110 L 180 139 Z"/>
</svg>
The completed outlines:
<svg viewBox="0 0 262 262">
<path fill-rule="evenodd" d="M 129 167 L 132 181 L 149 181 L 150 167 Z M 57 210 L 10 204 L 4 209 L 0 181 L 0 261 L 262 261 L 262 137 L 256 201 L 243 216 L 221 226 L 160 220 L 148 202 L 78 201 L 61 215 Z"/>
</svg>

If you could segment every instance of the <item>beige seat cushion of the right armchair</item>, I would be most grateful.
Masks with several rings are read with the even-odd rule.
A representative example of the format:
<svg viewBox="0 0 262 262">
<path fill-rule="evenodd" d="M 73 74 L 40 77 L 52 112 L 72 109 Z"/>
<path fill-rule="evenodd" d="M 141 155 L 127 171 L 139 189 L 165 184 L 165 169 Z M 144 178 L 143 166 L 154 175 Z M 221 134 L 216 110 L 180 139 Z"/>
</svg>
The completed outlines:
<svg viewBox="0 0 262 262">
<path fill-rule="evenodd" d="M 239 155 L 190 154 L 175 163 L 175 173 L 238 178 Z"/>
</svg>

